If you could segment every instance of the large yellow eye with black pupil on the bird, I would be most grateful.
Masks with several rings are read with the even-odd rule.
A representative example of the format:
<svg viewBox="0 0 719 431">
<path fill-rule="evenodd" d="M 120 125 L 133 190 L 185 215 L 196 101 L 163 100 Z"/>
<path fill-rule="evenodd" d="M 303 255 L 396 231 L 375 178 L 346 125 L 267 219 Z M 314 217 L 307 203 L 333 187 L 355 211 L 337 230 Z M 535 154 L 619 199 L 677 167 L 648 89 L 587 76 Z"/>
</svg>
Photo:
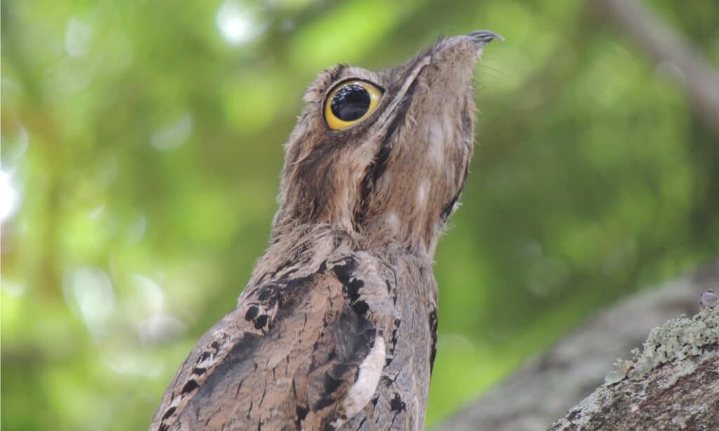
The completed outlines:
<svg viewBox="0 0 719 431">
<path fill-rule="evenodd" d="M 324 102 L 324 119 L 332 130 L 347 129 L 377 108 L 382 89 L 362 80 L 344 81 L 329 92 Z"/>
</svg>

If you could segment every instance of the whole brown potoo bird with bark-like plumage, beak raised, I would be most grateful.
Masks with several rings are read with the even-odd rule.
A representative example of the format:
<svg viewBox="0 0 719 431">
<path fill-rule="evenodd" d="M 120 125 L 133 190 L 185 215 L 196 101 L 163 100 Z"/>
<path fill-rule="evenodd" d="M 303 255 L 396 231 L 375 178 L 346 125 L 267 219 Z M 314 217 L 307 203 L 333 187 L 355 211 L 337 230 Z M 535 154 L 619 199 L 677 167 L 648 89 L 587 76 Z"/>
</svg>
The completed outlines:
<svg viewBox="0 0 719 431">
<path fill-rule="evenodd" d="M 472 74 L 498 37 L 439 40 L 379 73 L 319 74 L 285 146 L 270 246 L 151 430 L 423 427 L 432 259 L 472 157 Z"/>
</svg>

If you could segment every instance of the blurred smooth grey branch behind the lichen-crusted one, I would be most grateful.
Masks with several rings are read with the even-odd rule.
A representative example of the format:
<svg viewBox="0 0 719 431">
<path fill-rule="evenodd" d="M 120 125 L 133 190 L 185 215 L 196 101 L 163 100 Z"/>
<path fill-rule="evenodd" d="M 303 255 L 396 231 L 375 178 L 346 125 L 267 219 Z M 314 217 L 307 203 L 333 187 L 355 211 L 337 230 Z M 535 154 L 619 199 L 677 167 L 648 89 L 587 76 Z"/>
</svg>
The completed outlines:
<svg viewBox="0 0 719 431">
<path fill-rule="evenodd" d="M 690 276 L 629 297 L 597 314 L 584 327 L 575 330 L 543 356 L 528 363 L 436 429 L 546 430 L 551 422 L 605 383 L 605 376 L 612 371 L 615 358 L 627 357 L 633 348 L 640 347 L 651 328 L 682 314 L 695 314 L 700 294 L 717 287 L 719 261 Z M 705 353 L 709 354 L 710 350 Z M 716 348 L 714 354 L 717 354 Z M 691 360 L 698 361 L 700 357 Z M 669 366 L 674 365 L 667 364 L 665 367 Z M 714 363 L 714 366 L 716 368 L 717 364 Z M 622 382 L 610 387 L 620 390 L 627 384 Z"/>
</svg>

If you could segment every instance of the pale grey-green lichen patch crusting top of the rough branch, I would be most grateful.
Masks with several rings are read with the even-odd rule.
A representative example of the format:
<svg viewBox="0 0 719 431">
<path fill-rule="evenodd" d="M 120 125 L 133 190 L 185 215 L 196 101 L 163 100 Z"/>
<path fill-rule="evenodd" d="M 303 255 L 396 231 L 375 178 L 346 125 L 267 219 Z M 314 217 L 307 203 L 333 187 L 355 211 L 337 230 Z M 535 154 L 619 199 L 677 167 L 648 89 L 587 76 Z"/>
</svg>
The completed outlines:
<svg viewBox="0 0 719 431">
<path fill-rule="evenodd" d="M 633 349 L 631 360 L 617 359 L 605 383 L 615 384 L 626 377 L 640 380 L 662 363 L 700 355 L 706 346 L 717 343 L 719 307 L 703 308 L 691 319 L 682 315 L 651 330 L 641 353 Z"/>
</svg>

